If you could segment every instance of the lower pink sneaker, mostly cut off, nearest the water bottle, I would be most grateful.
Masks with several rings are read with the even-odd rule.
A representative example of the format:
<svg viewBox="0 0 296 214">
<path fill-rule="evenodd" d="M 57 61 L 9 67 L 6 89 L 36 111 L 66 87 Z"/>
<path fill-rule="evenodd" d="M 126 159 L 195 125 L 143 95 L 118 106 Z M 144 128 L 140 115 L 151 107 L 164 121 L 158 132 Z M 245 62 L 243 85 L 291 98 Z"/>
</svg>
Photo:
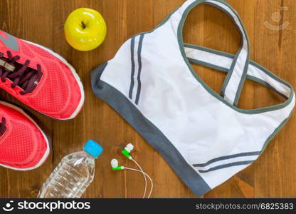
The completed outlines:
<svg viewBox="0 0 296 214">
<path fill-rule="evenodd" d="M 32 170 L 48 157 L 48 139 L 41 128 L 16 106 L 0 102 L 0 165 Z"/>
</svg>

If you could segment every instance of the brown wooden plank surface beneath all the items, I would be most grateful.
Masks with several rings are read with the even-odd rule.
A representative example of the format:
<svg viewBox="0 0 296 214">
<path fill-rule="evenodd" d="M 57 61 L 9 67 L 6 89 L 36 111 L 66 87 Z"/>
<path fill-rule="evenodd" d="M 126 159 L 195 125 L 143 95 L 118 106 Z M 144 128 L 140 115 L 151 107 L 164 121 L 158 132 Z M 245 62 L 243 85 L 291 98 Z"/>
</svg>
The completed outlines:
<svg viewBox="0 0 296 214">
<path fill-rule="evenodd" d="M 251 44 L 251 58 L 280 78 L 296 85 L 296 1 L 227 0 L 245 24 Z M 144 181 L 139 173 L 110 170 L 110 160 L 134 167 L 120 154 L 134 143 L 134 158 L 154 180 L 154 198 L 194 198 L 173 170 L 115 111 L 96 98 L 90 88 L 90 70 L 112 58 L 130 36 L 159 24 L 184 0 L 0 0 L 1 29 L 14 36 L 47 46 L 64 56 L 76 68 L 85 86 L 85 106 L 72 121 L 54 121 L 27 108 L 1 91 L 1 100 L 15 103 L 36 116 L 52 141 L 52 152 L 40 168 L 18 172 L 0 168 L 1 198 L 36 197 L 42 183 L 63 156 L 80 151 L 88 139 L 104 148 L 96 161 L 95 180 L 83 197 L 138 198 Z M 100 11 L 107 22 L 104 44 L 90 52 L 75 51 L 65 41 L 63 23 L 70 11 L 89 7 Z M 276 19 L 280 15 L 281 19 Z M 282 26 L 282 28 L 279 28 Z M 277 30 L 275 29 L 277 28 Z M 226 14 L 212 6 L 198 6 L 184 27 L 184 41 L 220 51 L 236 53 L 240 36 Z M 0 50 L 1 51 L 1 50 Z M 194 66 L 215 91 L 225 74 Z M 260 108 L 282 102 L 282 98 L 256 83 L 247 81 L 240 108 Z M 198 128 L 198 127 L 197 127 Z M 262 156 L 247 169 L 207 193 L 205 198 L 296 197 L 296 120 L 270 142 Z"/>
</svg>

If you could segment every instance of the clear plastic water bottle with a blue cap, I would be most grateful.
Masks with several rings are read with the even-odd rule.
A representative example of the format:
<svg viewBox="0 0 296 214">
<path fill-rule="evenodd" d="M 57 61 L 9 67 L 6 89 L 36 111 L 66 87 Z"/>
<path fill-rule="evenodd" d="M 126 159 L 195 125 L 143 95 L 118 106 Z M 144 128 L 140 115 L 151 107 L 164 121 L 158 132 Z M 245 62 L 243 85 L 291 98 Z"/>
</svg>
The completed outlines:
<svg viewBox="0 0 296 214">
<path fill-rule="evenodd" d="M 43 184 L 38 198 L 80 198 L 95 174 L 95 158 L 102 147 L 89 140 L 83 151 L 65 156 Z"/>
</svg>

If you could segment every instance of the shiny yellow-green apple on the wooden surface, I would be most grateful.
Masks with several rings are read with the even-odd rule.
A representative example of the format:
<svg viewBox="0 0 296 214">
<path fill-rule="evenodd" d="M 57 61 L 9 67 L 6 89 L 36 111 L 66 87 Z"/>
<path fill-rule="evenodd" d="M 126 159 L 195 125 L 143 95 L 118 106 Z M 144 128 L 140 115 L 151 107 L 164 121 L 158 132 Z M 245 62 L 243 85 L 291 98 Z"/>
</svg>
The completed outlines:
<svg viewBox="0 0 296 214">
<path fill-rule="evenodd" d="M 102 15 L 93 9 L 76 9 L 64 25 L 65 39 L 78 51 L 91 51 L 105 40 L 107 26 Z"/>
</svg>

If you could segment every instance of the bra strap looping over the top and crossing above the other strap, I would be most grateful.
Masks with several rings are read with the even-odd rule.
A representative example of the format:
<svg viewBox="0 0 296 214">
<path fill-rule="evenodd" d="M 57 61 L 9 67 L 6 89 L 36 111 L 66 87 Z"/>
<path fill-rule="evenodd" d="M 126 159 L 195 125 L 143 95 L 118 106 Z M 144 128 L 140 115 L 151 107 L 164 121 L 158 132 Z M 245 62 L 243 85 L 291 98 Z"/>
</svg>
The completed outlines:
<svg viewBox="0 0 296 214">
<path fill-rule="evenodd" d="M 237 106 L 243 84 L 245 83 L 250 61 L 250 42 L 248 34 L 245 31 L 245 27 L 243 26 L 243 22 L 240 20 L 238 13 L 223 0 L 188 0 L 180 8 L 181 14 L 183 14 L 182 19 L 184 19 L 184 17 L 189 14 L 189 11 L 191 11 L 191 9 L 197 4 L 210 4 L 226 12 L 226 14 L 233 19 L 234 24 L 236 24 L 236 27 L 240 31 L 240 49 L 236 53 L 221 89 L 221 96 L 223 96 L 228 103 Z"/>
</svg>

